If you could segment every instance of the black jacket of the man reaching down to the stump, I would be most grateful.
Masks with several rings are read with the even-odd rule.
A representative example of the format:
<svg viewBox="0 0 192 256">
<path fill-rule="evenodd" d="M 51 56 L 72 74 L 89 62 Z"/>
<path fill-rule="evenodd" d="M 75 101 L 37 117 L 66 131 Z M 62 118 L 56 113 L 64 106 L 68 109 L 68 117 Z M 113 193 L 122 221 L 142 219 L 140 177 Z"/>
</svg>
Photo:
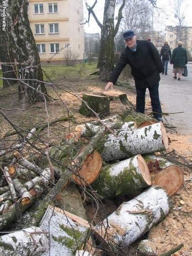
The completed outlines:
<svg viewBox="0 0 192 256">
<path fill-rule="evenodd" d="M 115 84 L 126 64 L 131 66 L 131 74 L 134 76 L 136 88 L 157 85 L 160 81 L 159 73 L 164 71 L 159 52 L 150 41 L 137 40 L 135 52 L 129 47 L 125 47 L 109 81 Z"/>
</svg>

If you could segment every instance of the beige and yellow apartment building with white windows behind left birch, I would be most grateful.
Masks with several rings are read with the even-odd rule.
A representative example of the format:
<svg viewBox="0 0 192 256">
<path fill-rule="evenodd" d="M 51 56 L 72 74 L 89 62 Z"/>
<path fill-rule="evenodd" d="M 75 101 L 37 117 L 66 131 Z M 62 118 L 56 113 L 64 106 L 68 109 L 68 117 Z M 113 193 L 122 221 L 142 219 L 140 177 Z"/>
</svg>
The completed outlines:
<svg viewBox="0 0 192 256">
<path fill-rule="evenodd" d="M 41 61 L 84 59 L 83 0 L 29 0 L 28 15 Z"/>
</svg>

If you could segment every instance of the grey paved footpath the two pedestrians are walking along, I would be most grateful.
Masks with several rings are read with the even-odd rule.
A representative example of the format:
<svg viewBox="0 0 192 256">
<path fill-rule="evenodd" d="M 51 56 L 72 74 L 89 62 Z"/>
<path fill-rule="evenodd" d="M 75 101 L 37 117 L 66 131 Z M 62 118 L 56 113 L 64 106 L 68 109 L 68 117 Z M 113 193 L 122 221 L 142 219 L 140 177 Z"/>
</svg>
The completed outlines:
<svg viewBox="0 0 192 256">
<path fill-rule="evenodd" d="M 181 134 L 192 137 L 192 64 L 187 64 L 188 76 L 181 76 L 180 81 L 173 79 L 172 68 L 169 64 L 168 75 L 160 74 L 160 101 L 165 113 L 184 112 L 170 114 L 167 119 Z"/>
</svg>

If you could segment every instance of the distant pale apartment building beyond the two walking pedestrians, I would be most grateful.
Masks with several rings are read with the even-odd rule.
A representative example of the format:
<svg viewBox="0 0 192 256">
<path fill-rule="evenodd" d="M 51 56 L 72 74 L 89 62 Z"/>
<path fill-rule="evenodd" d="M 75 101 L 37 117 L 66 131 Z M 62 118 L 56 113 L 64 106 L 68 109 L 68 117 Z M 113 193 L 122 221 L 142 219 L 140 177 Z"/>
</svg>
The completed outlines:
<svg viewBox="0 0 192 256">
<path fill-rule="evenodd" d="M 171 49 L 177 47 L 178 41 L 183 41 L 183 47 L 188 54 L 192 54 L 192 27 L 191 26 L 166 26 L 165 41 L 168 41 Z"/>
</svg>

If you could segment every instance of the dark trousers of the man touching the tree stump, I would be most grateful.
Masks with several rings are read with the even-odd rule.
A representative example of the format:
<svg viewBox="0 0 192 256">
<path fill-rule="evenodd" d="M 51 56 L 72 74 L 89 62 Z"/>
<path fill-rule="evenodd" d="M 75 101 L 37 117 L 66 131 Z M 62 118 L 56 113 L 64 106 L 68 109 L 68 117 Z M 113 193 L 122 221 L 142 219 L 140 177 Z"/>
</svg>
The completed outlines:
<svg viewBox="0 0 192 256">
<path fill-rule="evenodd" d="M 150 87 L 150 86 L 148 87 L 154 118 L 161 117 L 161 113 L 162 113 L 158 89 L 159 89 L 159 83 L 153 87 Z M 140 113 L 144 113 L 146 88 L 143 88 L 143 89 L 136 88 L 136 91 L 137 91 L 136 111 Z"/>
</svg>

